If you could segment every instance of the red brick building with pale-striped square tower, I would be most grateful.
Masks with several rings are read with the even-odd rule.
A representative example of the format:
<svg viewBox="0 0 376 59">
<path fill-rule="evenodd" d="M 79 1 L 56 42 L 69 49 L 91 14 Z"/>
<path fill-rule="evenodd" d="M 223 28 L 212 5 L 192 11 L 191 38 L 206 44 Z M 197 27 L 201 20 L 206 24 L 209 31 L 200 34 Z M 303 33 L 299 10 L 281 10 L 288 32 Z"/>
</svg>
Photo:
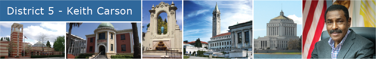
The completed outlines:
<svg viewBox="0 0 376 59">
<path fill-rule="evenodd" d="M 0 57 L 4 56 L 5 59 L 8 59 L 9 57 L 30 58 L 31 55 L 62 55 L 63 52 L 57 52 L 40 41 L 34 45 L 24 43 L 23 32 L 22 24 L 12 24 L 9 41 L 0 41 Z"/>
</svg>

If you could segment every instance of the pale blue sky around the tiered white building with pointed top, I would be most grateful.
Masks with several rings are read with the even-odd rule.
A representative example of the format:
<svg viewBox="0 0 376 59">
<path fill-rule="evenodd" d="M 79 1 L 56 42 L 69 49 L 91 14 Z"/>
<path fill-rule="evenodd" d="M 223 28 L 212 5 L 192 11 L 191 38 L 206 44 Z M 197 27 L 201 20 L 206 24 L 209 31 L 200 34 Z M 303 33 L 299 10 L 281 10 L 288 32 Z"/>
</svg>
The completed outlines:
<svg viewBox="0 0 376 59">
<path fill-rule="evenodd" d="M 282 4 L 282 6 L 281 6 Z M 284 15 L 297 24 L 297 36 L 302 35 L 302 1 L 301 0 L 255 0 L 255 20 L 253 21 L 253 37 L 266 36 L 266 24 L 270 19 L 279 16 L 281 8 Z"/>
</svg>

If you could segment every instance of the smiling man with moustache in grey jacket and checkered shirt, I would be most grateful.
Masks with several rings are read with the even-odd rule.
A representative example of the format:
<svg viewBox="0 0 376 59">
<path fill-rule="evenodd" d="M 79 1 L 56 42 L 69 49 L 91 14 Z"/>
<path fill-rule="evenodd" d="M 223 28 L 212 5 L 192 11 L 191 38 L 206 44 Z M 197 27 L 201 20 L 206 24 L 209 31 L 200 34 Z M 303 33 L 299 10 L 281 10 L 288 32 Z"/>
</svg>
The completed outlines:
<svg viewBox="0 0 376 59">
<path fill-rule="evenodd" d="M 332 5 L 324 16 L 330 37 L 315 43 L 311 59 L 372 59 L 373 43 L 349 29 L 351 18 L 345 6 Z"/>
</svg>

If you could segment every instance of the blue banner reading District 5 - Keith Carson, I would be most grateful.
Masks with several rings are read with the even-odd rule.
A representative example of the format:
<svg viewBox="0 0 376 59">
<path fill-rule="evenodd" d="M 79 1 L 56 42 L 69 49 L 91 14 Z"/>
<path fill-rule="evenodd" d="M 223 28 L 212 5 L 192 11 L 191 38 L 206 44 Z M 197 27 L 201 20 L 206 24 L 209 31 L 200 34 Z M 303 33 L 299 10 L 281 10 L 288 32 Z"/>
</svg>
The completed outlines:
<svg viewBox="0 0 376 59">
<path fill-rule="evenodd" d="M 0 0 L 0 21 L 141 21 L 141 0 Z"/>
</svg>

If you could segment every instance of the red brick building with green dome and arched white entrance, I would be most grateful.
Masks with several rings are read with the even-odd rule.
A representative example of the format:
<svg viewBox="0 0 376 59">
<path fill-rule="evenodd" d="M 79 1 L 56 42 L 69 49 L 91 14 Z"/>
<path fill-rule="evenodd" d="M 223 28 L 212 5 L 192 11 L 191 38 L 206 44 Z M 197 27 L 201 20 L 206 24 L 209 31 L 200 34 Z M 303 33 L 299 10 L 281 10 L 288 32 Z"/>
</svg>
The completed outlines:
<svg viewBox="0 0 376 59">
<path fill-rule="evenodd" d="M 94 34 L 86 36 L 86 53 L 94 55 L 133 55 L 132 29 L 116 30 L 111 23 L 101 23 Z"/>
</svg>

